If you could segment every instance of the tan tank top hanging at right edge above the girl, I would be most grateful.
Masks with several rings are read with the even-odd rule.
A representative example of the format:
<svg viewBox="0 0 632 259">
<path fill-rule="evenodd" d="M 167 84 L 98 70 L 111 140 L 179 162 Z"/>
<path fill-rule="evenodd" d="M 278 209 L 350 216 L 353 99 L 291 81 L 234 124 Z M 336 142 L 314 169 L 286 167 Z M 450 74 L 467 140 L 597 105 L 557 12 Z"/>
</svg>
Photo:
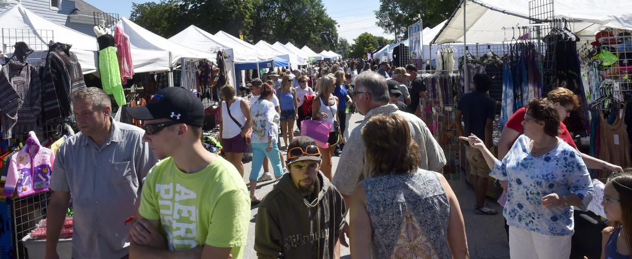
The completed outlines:
<svg viewBox="0 0 632 259">
<path fill-rule="evenodd" d="M 617 117 L 612 124 L 608 124 L 604 118 L 604 114 L 600 114 L 600 136 L 599 136 L 599 159 L 608 161 L 609 163 L 616 164 L 622 168 L 628 168 L 632 166 L 632 160 L 630 158 L 630 143 L 628 131 L 626 130 L 626 124 L 624 122 L 626 109 L 623 108 L 623 115 L 620 116 L 619 110 L 615 110 L 611 113 L 616 113 Z M 598 178 L 605 178 L 610 172 L 602 171 Z"/>
</svg>

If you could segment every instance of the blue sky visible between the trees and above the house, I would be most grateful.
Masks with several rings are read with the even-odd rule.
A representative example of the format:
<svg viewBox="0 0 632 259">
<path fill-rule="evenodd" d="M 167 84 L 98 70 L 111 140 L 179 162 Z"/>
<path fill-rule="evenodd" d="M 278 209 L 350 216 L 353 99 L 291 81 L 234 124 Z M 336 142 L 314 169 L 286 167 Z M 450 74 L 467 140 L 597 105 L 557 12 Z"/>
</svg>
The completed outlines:
<svg viewBox="0 0 632 259">
<path fill-rule="evenodd" d="M 118 13 L 121 17 L 130 17 L 131 3 L 147 3 L 147 0 L 86 0 L 96 8 L 106 13 Z M 379 8 L 379 0 L 323 0 L 329 16 L 337 21 L 338 35 L 346 38 L 349 43 L 363 32 L 373 35 L 394 38 L 375 25 L 373 11 Z"/>
</svg>

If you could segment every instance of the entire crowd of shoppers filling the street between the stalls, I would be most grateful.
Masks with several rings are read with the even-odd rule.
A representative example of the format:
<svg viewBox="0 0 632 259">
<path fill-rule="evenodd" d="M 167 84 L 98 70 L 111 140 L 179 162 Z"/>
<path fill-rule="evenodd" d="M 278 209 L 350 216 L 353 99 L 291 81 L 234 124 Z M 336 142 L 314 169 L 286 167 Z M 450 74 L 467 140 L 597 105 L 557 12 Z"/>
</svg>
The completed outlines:
<svg viewBox="0 0 632 259">
<path fill-rule="evenodd" d="M 73 258 L 243 258 L 246 249 L 258 258 L 340 258 L 340 245 L 350 245 L 352 258 L 468 258 L 459 201 L 440 173 L 446 156 L 418 117 L 427 96 L 416 67 L 382 62 L 374 72 L 359 61 L 322 63 L 312 74 L 269 71 L 250 81 L 250 101 L 224 86 L 223 158 L 202 145 L 204 106 L 184 88 L 162 89 L 147 106 L 127 109 L 143 129 L 112 120 L 102 90 L 78 91 L 81 132 L 54 163 L 46 257 L 58 258 L 73 197 Z M 490 178 L 504 189 L 511 258 L 569 258 L 576 210 L 595 195 L 588 168 L 616 172 L 602 202 L 614 224 L 599 238 L 604 258 L 630 258 L 632 170 L 577 150 L 562 122 L 577 97 L 557 88 L 529 101 L 507 122 L 494 156 L 490 79 L 473 79 L 455 127 L 468 145 L 475 212 L 497 213 L 485 204 Z M 349 131 L 355 110 L 364 118 Z M 308 119 L 331 125 L 325 143 L 295 137 L 295 122 L 300 129 Z M 260 199 L 257 183 L 270 180 L 273 190 Z M 129 216 L 131 224 L 121 224 Z"/>
</svg>

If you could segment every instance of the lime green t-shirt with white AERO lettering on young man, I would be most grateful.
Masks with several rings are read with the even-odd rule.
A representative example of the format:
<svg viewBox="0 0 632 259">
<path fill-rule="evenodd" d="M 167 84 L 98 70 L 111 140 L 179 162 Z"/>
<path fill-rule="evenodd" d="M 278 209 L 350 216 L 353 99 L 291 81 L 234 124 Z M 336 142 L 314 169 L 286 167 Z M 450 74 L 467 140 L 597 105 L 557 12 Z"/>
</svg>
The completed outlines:
<svg viewBox="0 0 632 259">
<path fill-rule="evenodd" d="M 180 171 L 167 158 L 149 171 L 142 190 L 140 215 L 160 220 L 169 250 L 199 246 L 232 247 L 243 256 L 250 219 L 250 197 L 239 172 L 217 157 L 197 173 Z"/>
</svg>

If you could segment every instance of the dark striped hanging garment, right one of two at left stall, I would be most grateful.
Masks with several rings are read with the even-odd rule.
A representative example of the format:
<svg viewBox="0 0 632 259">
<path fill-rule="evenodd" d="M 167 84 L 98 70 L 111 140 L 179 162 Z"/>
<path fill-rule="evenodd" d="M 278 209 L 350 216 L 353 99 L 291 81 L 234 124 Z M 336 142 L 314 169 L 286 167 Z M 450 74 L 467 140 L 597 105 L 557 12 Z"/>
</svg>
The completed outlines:
<svg viewBox="0 0 632 259">
<path fill-rule="evenodd" d="M 47 123 L 70 116 L 73 113 L 70 95 L 85 88 L 81 65 L 71 47 L 59 42 L 49 46 L 42 72 L 42 113 Z"/>
</svg>

